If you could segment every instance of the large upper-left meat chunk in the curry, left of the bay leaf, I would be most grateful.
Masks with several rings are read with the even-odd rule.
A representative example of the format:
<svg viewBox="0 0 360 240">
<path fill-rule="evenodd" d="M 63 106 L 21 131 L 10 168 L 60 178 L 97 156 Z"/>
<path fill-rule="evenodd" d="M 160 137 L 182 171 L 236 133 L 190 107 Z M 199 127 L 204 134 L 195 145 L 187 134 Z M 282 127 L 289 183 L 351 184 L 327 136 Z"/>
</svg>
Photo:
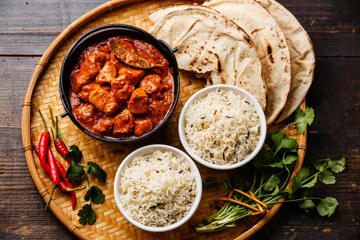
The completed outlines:
<svg viewBox="0 0 360 240">
<path fill-rule="evenodd" d="M 102 52 L 90 54 L 81 64 L 80 72 L 85 77 L 94 78 L 108 60 L 110 60 L 108 54 Z"/>
</svg>

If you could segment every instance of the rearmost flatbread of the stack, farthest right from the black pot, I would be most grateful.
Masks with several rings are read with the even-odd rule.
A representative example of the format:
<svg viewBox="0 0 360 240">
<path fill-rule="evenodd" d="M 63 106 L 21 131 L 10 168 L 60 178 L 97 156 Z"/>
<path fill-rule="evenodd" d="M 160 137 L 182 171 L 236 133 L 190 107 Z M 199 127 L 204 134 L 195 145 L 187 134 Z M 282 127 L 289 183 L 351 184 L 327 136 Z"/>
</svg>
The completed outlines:
<svg viewBox="0 0 360 240">
<path fill-rule="evenodd" d="M 314 78 L 315 53 L 309 35 L 284 6 L 274 0 L 257 0 L 275 18 L 287 40 L 291 59 L 290 92 L 278 122 L 301 104 Z"/>
</svg>

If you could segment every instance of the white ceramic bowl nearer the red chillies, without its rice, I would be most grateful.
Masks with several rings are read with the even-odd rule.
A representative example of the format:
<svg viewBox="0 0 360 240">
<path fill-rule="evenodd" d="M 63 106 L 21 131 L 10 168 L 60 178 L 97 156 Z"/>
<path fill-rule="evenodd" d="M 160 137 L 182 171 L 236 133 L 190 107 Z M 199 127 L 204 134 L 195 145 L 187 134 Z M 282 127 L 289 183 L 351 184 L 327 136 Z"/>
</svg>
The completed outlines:
<svg viewBox="0 0 360 240">
<path fill-rule="evenodd" d="M 169 151 L 172 154 L 174 154 L 175 157 L 177 158 L 183 158 L 184 161 L 186 163 L 189 164 L 190 166 L 190 170 L 191 172 L 195 175 L 196 178 L 196 189 L 198 191 L 197 195 L 195 196 L 195 201 L 190 209 L 190 212 L 188 215 L 186 215 L 185 217 L 181 218 L 180 221 L 173 223 L 172 225 L 169 226 L 163 226 L 163 227 L 150 227 L 150 226 L 145 226 L 139 222 L 136 222 L 133 218 L 131 218 L 126 210 L 123 208 L 122 206 L 122 201 L 120 200 L 120 190 L 119 190 L 119 186 L 120 186 L 120 178 L 121 178 L 121 172 L 123 170 L 123 168 L 125 166 L 127 166 L 127 164 L 129 164 L 132 159 L 134 159 L 134 157 L 136 156 L 143 156 L 146 154 L 150 154 L 153 153 L 156 150 L 161 150 L 161 151 Z M 118 207 L 118 209 L 120 210 L 121 214 L 127 219 L 127 221 L 129 221 L 132 225 L 141 228 L 143 230 L 146 231 L 150 231 L 150 232 L 166 232 L 166 231 L 170 231 L 172 229 L 175 229 L 177 227 L 180 227 L 181 225 L 183 225 L 185 222 L 189 221 L 189 219 L 193 216 L 193 214 L 195 213 L 196 209 L 199 206 L 200 203 L 200 199 L 201 199 L 201 194 L 202 194 L 202 182 L 201 182 L 201 176 L 199 173 L 198 168 L 196 167 L 195 163 L 193 162 L 193 160 L 183 151 L 174 148 L 172 146 L 168 146 L 168 145 L 161 145 L 161 144 L 154 144 L 154 145 L 148 145 L 148 146 L 144 146 L 142 148 L 139 148 L 135 151 L 133 151 L 132 153 L 130 153 L 129 155 L 127 155 L 127 157 L 122 161 L 122 163 L 120 164 L 119 168 L 117 169 L 116 175 L 115 175 L 115 181 L 114 181 L 114 196 L 115 196 L 115 201 L 116 201 L 116 205 Z"/>
</svg>

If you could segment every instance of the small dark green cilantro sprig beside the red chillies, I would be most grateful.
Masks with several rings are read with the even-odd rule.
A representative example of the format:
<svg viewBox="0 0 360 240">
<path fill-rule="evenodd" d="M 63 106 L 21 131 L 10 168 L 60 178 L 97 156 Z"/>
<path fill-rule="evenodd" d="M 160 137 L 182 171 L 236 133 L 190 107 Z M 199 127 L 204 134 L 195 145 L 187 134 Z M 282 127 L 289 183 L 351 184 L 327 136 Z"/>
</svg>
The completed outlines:
<svg viewBox="0 0 360 240">
<path fill-rule="evenodd" d="M 84 167 L 86 167 L 86 169 L 84 169 Z M 102 168 L 100 168 L 97 163 L 87 162 L 87 165 L 84 165 L 75 163 L 73 160 L 71 160 L 70 166 L 66 171 L 66 177 L 68 178 L 69 182 L 80 182 L 82 177 L 85 176 L 87 185 L 89 187 L 84 196 L 84 200 L 89 201 L 90 203 L 85 204 L 77 213 L 77 215 L 80 217 L 79 223 L 81 225 L 93 225 L 96 220 L 96 213 L 91 206 L 91 203 L 103 204 L 105 202 L 105 195 L 103 194 L 103 190 L 95 185 L 90 186 L 89 177 L 87 175 L 94 175 L 94 177 L 101 182 L 105 182 L 107 177 L 107 173 Z"/>
</svg>

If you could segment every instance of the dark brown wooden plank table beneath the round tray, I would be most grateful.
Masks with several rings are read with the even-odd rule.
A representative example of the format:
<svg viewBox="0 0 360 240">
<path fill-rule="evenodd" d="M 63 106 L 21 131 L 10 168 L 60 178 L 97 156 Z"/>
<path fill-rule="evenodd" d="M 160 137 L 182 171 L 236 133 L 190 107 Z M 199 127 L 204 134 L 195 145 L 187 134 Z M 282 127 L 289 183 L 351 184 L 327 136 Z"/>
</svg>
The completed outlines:
<svg viewBox="0 0 360 240">
<path fill-rule="evenodd" d="M 44 211 L 22 150 L 21 102 L 37 61 L 71 22 L 99 0 L 0 2 L 0 239 L 76 239 Z M 359 0 L 281 0 L 309 33 L 316 54 L 306 100 L 315 109 L 304 166 L 340 153 L 346 169 L 319 196 L 339 201 L 330 218 L 287 204 L 253 239 L 360 239 Z"/>
</svg>

